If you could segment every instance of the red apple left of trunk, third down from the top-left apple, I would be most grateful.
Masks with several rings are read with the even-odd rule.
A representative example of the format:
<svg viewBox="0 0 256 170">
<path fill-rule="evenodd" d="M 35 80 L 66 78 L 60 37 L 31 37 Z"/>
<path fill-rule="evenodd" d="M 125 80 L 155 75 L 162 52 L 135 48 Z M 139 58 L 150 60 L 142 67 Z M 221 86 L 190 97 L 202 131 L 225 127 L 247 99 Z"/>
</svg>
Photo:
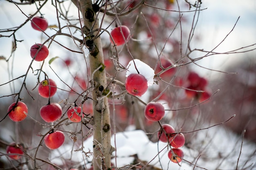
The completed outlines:
<svg viewBox="0 0 256 170">
<path fill-rule="evenodd" d="M 38 86 L 39 95 L 45 98 L 52 97 L 56 91 L 57 85 L 52 79 L 49 79 L 49 81 L 45 79 Z"/>
</svg>

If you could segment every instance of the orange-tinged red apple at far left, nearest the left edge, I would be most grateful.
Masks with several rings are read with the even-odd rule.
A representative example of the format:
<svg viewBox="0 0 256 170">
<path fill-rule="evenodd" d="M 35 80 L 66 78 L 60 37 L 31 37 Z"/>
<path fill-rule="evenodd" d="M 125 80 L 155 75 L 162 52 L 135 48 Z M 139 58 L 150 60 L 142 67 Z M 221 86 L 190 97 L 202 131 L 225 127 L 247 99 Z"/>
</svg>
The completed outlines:
<svg viewBox="0 0 256 170">
<path fill-rule="evenodd" d="M 25 114 L 28 113 L 27 105 L 23 102 L 18 102 L 16 105 L 16 102 L 14 102 L 9 106 L 7 112 L 12 121 L 22 121 L 27 117 Z"/>
</svg>

